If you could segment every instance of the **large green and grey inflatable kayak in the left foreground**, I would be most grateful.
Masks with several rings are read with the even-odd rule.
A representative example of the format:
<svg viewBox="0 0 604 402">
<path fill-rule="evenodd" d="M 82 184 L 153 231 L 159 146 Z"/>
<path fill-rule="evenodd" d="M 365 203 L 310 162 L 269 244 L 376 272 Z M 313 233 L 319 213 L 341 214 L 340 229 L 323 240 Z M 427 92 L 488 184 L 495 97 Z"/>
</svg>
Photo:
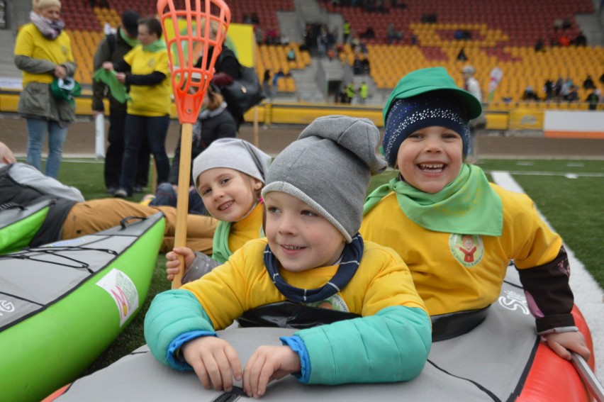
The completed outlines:
<svg viewBox="0 0 604 402">
<path fill-rule="evenodd" d="M 73 381 L 147 297 L 162 213 L 0 256 L 0 401 L 40 401 Z"/>
</svg>

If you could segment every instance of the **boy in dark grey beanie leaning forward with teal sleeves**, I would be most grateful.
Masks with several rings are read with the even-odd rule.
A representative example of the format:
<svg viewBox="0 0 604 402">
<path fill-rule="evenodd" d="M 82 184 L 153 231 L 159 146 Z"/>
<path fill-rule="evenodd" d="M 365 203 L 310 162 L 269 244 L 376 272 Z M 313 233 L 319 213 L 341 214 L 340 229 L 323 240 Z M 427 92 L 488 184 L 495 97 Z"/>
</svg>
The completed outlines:
<svg viewBox="0 0 604 402">
<path fill-rule="evenodd" d="M 358 233 L 371 174 L 386 167 L 376 157 L 378 140 L 367 119 L 326 116 L 308 125 L 267 173 L 267 238 L 250 240 L 222 266 L 152 302 L 145 337 L 155 357 L 176 369 L 195 367 L 206 387 L 228 391 L 233 377 L 242 379 L 255 398 L 286 374 L 308 384 L 417 376 L 431 345 L 423 301 L 401 258 Z M 322 310 L 345 319 L 300 325 L 306 329 L 281 337 L 282 346 L 257 349 L 242 370 L 215 331 L 284 303 L 314 308 L 315 323 L 325 322 Z"/>
</svg>

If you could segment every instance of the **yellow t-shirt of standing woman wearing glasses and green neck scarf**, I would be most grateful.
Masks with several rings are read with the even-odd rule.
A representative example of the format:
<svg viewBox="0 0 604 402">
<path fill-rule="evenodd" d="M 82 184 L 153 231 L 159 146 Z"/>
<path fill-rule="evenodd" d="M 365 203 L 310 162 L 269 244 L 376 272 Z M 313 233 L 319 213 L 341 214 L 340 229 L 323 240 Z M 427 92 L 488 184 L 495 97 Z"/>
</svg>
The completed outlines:
<svg viewBox="0 0 604 402">
<path fill-rule="evenodd" d="M 152 72 L 162 72 L 166 78 L 157 85 L 130 85 L 128 114 L 135 116 L 165 116 L 170 113 L 172 104 L 172 83 L 168 67 L 167 50 L 147 52 L 138 45 L 124 56 L 130 65 L 130 72 L 137 75 L 147 75 Z"/>
</svg>

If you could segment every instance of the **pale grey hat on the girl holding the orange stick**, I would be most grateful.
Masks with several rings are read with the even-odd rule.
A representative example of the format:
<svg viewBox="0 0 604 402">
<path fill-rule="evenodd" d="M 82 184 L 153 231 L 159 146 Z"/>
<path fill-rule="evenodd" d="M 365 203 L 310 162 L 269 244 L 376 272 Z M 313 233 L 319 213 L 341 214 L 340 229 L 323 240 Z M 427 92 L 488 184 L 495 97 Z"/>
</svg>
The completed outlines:
<svg viewBox="0 0 604 402">
<path fill-rule="evenodd" d="M 264 176 L 271 162 L 271 157 L 254 145 L 238 138 L 220 138 L 214 140 L 193 161 L 193 181 L 206 170 L 215 167 L 228 167 L 264 183 Z"/>
</svg>

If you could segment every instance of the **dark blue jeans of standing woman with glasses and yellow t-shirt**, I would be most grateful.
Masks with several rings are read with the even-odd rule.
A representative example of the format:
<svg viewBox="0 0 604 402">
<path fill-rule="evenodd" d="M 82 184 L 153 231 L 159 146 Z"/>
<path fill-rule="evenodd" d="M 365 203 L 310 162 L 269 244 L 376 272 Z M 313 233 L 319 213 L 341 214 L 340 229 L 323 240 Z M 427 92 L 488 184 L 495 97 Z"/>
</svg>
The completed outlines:
<svg viewBox="0 0 604 402">
<path fill-rule="evenodd" d="M 168 181 L 170 166 L 166 154 L 166 136 L 169 123 L 169 115 L 157 117 L 126 115 L 120 187 L 128 191 L 128 194 L 132 194 L 133 191 L 138 167 L 138 153 L 145 138 L 147 138 L 149 151 L 155 158 L 157 184 Z"/>
</svg>

